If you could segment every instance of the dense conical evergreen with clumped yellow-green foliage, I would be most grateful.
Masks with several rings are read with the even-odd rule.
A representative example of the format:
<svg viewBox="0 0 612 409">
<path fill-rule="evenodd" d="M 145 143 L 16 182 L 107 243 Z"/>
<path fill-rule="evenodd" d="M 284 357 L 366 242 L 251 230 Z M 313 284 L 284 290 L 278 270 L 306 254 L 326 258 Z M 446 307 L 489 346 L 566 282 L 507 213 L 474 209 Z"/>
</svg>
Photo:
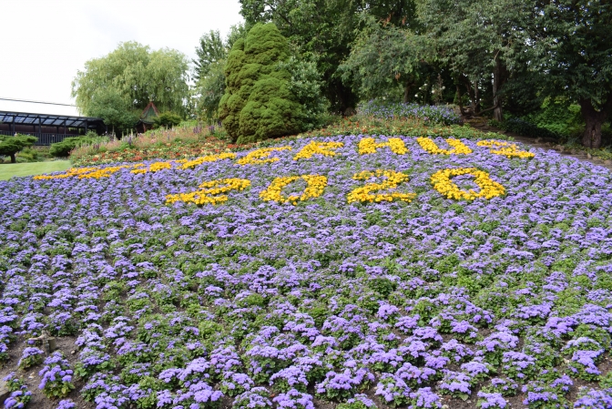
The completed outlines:
<svg viewBox="0 0 612 409">
<path fill-rule="evenodd" d="M 232 142 L 250 143 L 300 129 L 301 107 L 289 90 L 291 74 L 278 63 L 290 57 L 287 39 L 274 24 L 253 26 L 231 48 L 219 118 Z"/>
</svg>

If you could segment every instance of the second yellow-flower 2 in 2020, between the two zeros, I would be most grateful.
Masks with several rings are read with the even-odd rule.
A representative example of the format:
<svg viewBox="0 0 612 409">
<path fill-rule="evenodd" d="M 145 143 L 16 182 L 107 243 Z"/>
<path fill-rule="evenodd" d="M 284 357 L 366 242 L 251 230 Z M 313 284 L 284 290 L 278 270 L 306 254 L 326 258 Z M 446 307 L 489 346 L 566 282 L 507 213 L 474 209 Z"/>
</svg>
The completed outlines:
<svg viewBox="0 0 612 409">
<path fill-rule="evenodd" d="M 416 197 L 416 194 L 414 193 L 400 193 L 397 191 L 391 193 L 373 194 L 373 192 L 378 190 L 396 189 L 400 185 L 400 183 L 409 180 L 408 175 L 396 172 L 394 170 L 364 170 L 361 173 L 355 173 L 352 179 L 367 180 L 373 177 L 384 177 L 385 179 L 382 181 L 382 183 L 368 183 L 361 188 L 352 189 L 351 193 L 349 193 L 349 195 L 347 196 L 347 200 L 349 203 L 352 203 L 353 201 L 360 201 L 362 203 L 372 203 L 374 201 L 393 201 L 395 199 L 411 202 Z"/>
</svg>

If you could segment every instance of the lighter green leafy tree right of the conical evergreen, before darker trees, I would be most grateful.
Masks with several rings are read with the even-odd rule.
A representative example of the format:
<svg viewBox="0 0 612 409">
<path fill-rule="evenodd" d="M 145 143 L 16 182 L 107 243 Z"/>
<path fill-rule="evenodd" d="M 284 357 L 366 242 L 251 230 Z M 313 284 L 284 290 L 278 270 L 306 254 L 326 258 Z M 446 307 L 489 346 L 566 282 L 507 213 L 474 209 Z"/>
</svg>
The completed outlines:
<svg viewBox="0 0 612 409">
<path fill-rule="evenodd" d="M 379 23 L 372 15 L 364 14 L 363 21 L 351 54 L 340 66 L 342 77 L 352 77 L 362 97 L 381 97 L 400 87 L 403 102 L 408 102 L 424 64 L 424 37 L 387 21 Z"/>
</svg>

